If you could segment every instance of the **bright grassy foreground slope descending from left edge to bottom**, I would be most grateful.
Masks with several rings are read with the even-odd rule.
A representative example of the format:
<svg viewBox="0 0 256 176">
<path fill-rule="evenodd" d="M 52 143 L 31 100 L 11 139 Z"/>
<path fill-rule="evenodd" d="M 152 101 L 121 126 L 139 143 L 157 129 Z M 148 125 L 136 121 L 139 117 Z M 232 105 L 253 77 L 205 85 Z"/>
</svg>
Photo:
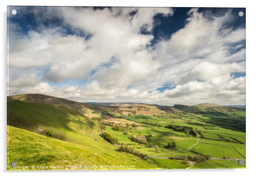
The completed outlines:
<svg viewBox="0 0 256 176">
<path fill-rule="evenodd" d="M 131 154 L 114 150 L 104 153 L 97 148 L 57 140 L 24 129 L 8 126 L 7 168 L 11 162 L 17 166 L 31 165 L 134 165 L 136 169 L 157 168 L 151 162 L 134 159 Z"/>
</svg>

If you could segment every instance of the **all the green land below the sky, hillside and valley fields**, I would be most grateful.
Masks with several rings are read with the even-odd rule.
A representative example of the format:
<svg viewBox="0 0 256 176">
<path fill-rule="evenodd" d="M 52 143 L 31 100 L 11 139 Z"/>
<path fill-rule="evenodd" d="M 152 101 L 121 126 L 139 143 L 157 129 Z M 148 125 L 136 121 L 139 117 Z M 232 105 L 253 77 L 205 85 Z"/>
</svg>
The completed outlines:
<svg viewBox="0 0 256 176">
<path fill-rule="evenodd" d="M 41 94 L 10 96 L 7 104 L 8 169 L 13 161 L 137 169 L 245 168 L 237 164 L 246 157 L 242 108 L 102 105 Z M 236 123 L 223 125 L 225 119 Z"/>
</svg>

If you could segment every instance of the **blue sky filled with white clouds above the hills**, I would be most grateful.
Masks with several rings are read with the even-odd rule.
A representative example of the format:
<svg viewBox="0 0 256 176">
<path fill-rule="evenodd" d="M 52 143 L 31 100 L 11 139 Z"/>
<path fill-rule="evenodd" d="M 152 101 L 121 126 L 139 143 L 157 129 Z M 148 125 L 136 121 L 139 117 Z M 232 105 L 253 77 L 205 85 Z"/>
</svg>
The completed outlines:
<svg viewBox="0 0 256 176">
<path fill-rule="evenodd" d="M 245 8 L 9 6 L 8 13 L 8 95 L 245 105 Z"/>
</svg>

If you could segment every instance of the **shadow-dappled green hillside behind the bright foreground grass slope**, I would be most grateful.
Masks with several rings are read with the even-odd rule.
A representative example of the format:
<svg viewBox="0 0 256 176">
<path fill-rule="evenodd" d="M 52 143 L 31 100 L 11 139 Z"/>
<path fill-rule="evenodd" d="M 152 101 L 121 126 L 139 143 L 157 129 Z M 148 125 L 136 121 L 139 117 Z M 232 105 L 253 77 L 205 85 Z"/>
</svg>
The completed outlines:
<svg viewBox="0 0 256 176">
<path fill-rule="evenodd" d="M 98 127 L 94 121 L 62 105 L 11 101 L 8 102 L 8 116 L 8 123 L 11 126 L 27 129 L 35 133 L 41 133 L 37 130 L 40 127 L 44 130 L 43 135 L 45 135 L 46 131 L 52 130 L 54 138 L 93 148 L 95 154 L 102 157 L 108 157 L 111 154 L 111 160 L 116 163 L 127 158 L 125 154 L 115 151 L 116 146 L 111 145 L 98 135 Z M 94 130 L 92 126 L 94 126 Z M 13 138 L 10 139 L 12 140 Z M 41 142 L 38 141 L 38 143 L 40 144 Z M 29 147 L 30 145 L 27 146 Z M 12 151 L 11 148 L 14 148 L 14 145 L 10 146 L 10 156 L 17 156 L 17 151 Z M 138 157 L 133 156 L 133 158 Z M 63 159 L 67 160 L 65 155 Z M 150 165 L 148 164 L 149 168 L 154 166 L 151 165 L 151 167 Z M 145 165 L 145 168 L 148 166 Z"/>
</svg>

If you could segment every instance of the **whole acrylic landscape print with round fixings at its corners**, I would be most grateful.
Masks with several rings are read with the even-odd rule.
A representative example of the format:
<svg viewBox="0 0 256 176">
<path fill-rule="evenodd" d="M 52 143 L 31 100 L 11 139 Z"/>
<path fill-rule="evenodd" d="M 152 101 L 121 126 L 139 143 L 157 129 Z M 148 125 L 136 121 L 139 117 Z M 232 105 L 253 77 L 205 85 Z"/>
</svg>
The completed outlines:
<svg viewBox="0 0 256 176">
<path fill-rule="evenodd" d="M 245 168 L 245 8 L 7 11 L 7 170 Z"/>
</svg>

